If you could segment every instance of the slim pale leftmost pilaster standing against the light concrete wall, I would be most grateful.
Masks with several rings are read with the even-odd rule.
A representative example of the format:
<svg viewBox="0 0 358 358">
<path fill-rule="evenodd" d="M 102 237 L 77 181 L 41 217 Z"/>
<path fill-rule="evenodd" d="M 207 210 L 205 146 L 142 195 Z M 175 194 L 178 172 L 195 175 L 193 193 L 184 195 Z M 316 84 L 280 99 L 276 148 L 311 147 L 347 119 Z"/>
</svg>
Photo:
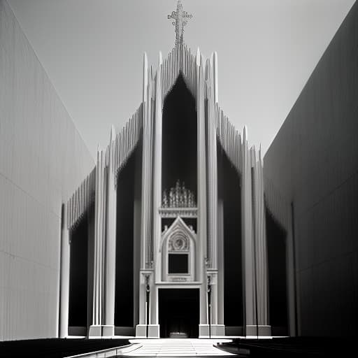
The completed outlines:
<svg viewBox="0 0 358 358">
<path fill-rule="evenodd" d="M 70 272 L 70 237 L 67 227 L 68 206 L 62 205 L 61 227 L 61 301 L 59 315 L 59 337 L 69 335 L 69 272 Z"/>
</svg>

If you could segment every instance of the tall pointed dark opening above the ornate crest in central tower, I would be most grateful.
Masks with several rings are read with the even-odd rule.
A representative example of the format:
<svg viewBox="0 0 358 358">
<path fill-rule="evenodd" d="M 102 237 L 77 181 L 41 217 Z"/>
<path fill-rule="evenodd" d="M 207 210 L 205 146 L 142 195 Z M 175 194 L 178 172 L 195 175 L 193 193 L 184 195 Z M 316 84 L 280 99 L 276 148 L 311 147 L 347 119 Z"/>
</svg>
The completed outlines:
<svg viewBox="0 0 358 358">
<path fill-rule="evenodd" d="M 187 89 L 182 74 L 164 99 L 162 124 L 162 189 L 175 187 L 176 181 L 196 196 L 195 99 Z"/>
</svg>

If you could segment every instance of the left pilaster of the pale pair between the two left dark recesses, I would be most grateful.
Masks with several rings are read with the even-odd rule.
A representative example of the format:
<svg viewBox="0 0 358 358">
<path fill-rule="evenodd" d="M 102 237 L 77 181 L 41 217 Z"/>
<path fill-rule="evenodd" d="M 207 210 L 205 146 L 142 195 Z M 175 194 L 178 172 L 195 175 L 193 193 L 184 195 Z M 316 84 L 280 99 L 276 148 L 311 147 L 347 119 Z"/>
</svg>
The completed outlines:
<svg viewBox="0 0 358 358">
<path fill-rule="evenodd" d="M 89 336 L 102 336 L 103 324 L 103 259 L 104 237 L 106 231 L 106 157 L 103 151 L 97 151 L 96 165 L 96 199 L 94 217 L 94 281 L 93 281 L 93 315 Z"/>
</svg>

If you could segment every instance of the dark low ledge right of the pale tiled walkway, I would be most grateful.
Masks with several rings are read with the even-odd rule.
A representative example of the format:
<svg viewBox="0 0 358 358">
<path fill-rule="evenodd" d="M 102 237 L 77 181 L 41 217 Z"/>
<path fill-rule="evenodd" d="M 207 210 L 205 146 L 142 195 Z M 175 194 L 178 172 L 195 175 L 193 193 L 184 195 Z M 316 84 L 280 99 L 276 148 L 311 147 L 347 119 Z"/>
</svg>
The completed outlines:
<svg viewBox="0 0 358 358">
<path fill-rule="evenodd" d="M 240 357 L 352 357 L 355 338 L 289 337 L 235 339 L 217 347 Z M 355 355 L 355 353 L 353 353 Z"/>
</svg>

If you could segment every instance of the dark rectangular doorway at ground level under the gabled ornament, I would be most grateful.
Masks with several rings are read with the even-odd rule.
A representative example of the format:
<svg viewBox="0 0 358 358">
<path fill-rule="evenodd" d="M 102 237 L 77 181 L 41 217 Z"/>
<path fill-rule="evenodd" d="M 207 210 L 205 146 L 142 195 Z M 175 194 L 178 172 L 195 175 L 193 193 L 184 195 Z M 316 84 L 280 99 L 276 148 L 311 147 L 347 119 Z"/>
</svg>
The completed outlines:
<svg viewBox="0 0 358 358">
<path fill-rule="evenodd" d="M 198 338 L 199 289 L 159 289 L 161 338 Z"/>
</svg>

